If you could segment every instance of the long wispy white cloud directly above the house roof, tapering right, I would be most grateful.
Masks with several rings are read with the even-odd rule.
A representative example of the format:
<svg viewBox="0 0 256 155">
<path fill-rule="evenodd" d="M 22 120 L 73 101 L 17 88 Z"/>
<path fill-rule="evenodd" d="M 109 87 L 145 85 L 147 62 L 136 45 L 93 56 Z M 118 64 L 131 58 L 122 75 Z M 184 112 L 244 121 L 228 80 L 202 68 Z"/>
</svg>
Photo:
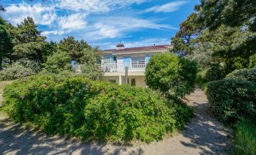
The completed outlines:
<svg viewBox="0 0 256 155">
<path fill-rule="evenodd" d="M 94 39 L 121 38 L 128 32 L 134 32 L 139 29 L 176 30 L 177 28 L 136 17 L 107 17 L 97 21 L 94 24 L 93 31 L 88 32 L 87 35 L 94 37 Z"/>
</svg>

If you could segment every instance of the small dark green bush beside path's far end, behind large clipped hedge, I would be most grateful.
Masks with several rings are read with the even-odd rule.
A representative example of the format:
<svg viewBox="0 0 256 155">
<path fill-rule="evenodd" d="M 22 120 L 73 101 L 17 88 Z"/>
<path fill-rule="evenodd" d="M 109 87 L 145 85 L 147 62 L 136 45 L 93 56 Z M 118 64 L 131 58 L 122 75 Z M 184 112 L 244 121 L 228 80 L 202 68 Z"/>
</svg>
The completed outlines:
<svg viewBox="0 0 256 155">
<path fill-rule="evenodd" d="M 221 71 L 219 65 L 211 65 L 205 73 L 205 81 L 207 82 L 221 80 L 222 78 L 224 78 L 224 72 Z"/>
</svg>

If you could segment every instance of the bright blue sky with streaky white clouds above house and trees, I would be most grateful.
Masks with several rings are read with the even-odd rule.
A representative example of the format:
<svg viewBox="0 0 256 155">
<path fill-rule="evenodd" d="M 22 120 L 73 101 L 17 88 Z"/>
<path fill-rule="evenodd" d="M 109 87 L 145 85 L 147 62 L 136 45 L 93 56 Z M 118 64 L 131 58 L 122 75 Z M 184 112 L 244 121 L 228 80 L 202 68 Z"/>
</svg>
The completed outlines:
<svg viewBox="0 0 256 155">
<path fill-rule="evenodd" d="M 199 0 L 0 0 L 16 26 L 32 17 L 48 41 L 68 36 L 100 49 L 171 44 Z"/>
</svg>

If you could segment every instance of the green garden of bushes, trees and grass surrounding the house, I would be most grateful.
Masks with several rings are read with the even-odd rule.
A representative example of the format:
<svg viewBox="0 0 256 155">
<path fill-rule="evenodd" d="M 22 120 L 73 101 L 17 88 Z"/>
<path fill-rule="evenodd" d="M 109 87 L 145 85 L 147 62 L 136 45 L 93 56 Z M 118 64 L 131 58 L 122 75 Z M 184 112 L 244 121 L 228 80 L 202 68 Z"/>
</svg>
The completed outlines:
<svg viewBox="0 0 256 155">
<path fill-rule="evenodd" d="M 256 154 L 254 5 L 196 5 L 171 38 L 173 49 L 148 62 L 147 89 L 100 81 L 100 50 L 83 40 L 47 41 L 31 17 L 17 26 L 0 18 L 0 110 L 48 135 L 150 143 L 191 120 L 182 99 L 198 85 L 211 114 L 234 131 L 230 154 Z M 72 60 L 85 64 L 82 74 Z"/>
</svg>

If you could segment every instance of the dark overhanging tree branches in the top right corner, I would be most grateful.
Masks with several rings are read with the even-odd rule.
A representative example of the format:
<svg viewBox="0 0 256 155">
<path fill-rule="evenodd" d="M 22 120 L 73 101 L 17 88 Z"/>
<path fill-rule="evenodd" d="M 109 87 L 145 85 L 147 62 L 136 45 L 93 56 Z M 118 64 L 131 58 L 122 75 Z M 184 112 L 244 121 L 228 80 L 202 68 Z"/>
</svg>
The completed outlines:
<svg viewBox="0 0 256 155">
<path fill-rule="evenodd" d="M 256 31 L 256 1 L 255 0 L 201 0 L 196 5 L 202 23 L 209 29 L 225 26 L 248 26 Z"/>
</svg>

